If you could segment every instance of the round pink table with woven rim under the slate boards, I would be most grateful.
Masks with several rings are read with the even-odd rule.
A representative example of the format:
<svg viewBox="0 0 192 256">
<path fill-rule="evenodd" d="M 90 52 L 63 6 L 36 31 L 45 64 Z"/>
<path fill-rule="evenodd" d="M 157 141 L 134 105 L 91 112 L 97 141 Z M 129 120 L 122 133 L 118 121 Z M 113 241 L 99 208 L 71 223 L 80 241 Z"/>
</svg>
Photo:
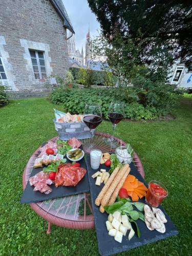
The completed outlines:
<svg viewBox="0 0 192 256">
<path fill-rule="evenodd" d="M 111 137 L 111 135 L 101 132 L 96 132 L 95 136 Z M 58 137 L 54 137 L 49 141 L 55 142 L 57 139 Z M 117 144 L 120 144 L 120 139 L 115 138 L 115 140 Z M 122 145 L 125 144 L 123 141 L 121 143 Z M 39 155 L 39 148 L 33 153 L 25 167 L 23 189 L 27 185 L 35 159 Z M 134 153 L 133 162 L 138 172 L 144 178 L 144 169 L 136 153 Z M 40 217 L 48 221 L 48 234 L 51 232 L 51 224 L 74 229 L 90 229 L 94 227 L 94 217 L 89 193 L 31 203 L 30 206 Z"/>
</svg>

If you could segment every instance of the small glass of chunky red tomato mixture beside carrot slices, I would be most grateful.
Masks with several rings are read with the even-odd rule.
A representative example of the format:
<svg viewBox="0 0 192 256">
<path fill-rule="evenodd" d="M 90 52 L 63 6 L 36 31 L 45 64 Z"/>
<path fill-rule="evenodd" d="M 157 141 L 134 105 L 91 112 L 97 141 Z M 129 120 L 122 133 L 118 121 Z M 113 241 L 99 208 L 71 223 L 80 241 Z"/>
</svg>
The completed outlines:
<svg viewBox="0 0 192 256">
<path fill-rule="evenodd" d="M 148 183 L 148 190 L 145 200 L 148 205 L 158 207 L 162 201 L 167 197 L 168 190 L 159 181 L 152 180 Z"/>
</svg>

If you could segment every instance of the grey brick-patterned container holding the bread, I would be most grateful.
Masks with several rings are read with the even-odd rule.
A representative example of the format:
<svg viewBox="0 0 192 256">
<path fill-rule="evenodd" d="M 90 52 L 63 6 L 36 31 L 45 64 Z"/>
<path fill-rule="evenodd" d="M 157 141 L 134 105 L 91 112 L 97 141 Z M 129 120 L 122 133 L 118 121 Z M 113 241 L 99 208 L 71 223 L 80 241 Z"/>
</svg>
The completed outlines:
<svg viewBox="0 0 192 256">
<path fill-rule="evenodd" d="M 88 126 L 82 123 L 59 123 L 56 118 L 53 119 L 55 130 L 58 133 L 60 140 L 69 140 L 73 137 L 77 139 L 91 138 L 91 132 Z"/>
</svg>

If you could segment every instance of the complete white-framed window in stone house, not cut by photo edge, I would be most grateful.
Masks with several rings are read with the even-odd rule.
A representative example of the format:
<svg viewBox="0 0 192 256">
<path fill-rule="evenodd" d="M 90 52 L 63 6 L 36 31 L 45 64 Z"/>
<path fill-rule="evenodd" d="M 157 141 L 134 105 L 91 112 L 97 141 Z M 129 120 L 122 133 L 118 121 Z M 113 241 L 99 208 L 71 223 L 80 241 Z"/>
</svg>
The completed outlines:
<svg viewBox="0 0 192 256">
<path fill-rule="evenodd" d="M 47 77 L 44 52 L 29 50 L 35 79 L 45 79 Z"/>
</svg>

